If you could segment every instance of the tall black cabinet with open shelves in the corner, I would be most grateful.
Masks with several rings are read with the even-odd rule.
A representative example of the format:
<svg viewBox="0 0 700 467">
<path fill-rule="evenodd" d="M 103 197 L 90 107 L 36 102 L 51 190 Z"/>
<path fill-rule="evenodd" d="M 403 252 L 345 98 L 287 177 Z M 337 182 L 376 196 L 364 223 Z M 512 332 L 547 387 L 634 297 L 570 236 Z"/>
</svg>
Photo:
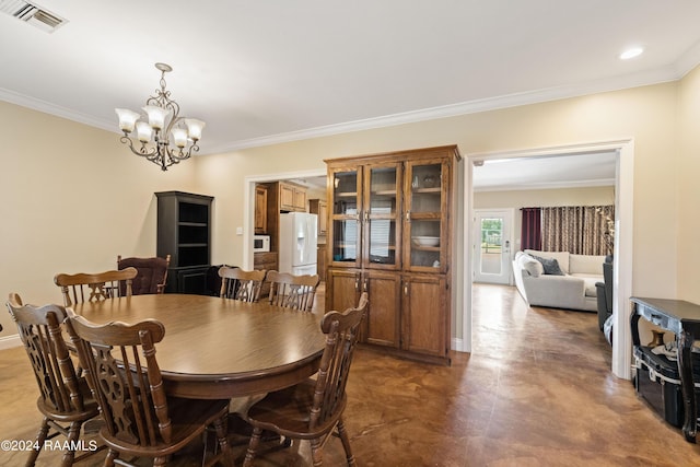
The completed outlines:
<svg viewBox="0 0 700 467">
<path fill-rule="evenodd" d="M 211 262 L 213 197 L 161 191 L 158 197 L 158 256 L 171 255 L 165 292 L 207 293 Z"/>
</svg>

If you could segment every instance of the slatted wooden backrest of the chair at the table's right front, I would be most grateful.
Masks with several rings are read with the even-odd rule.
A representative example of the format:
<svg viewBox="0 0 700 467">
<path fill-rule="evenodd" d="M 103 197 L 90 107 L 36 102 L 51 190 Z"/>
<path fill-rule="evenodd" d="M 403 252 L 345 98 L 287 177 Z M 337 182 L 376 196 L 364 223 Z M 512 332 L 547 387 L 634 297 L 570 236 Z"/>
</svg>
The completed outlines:
<svg viewBox="0 0 700 467">
<path fill-rule="evenodd" d="M 326 348 L 318 367 L 308 419 L 311 431 L 339 417 L 345 408 L 346 384 L 368 302 L 368 293 L 363 292 L 357 307 L 343 313 L 328 312 L 320 322 L 320 330 L 326 335 Z"/>
</svg>

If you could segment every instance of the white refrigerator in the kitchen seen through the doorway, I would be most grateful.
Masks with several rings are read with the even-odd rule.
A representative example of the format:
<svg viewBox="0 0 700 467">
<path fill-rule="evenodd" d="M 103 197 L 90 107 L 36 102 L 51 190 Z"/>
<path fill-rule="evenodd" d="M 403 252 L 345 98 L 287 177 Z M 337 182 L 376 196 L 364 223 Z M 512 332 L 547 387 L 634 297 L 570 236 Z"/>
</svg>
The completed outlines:
<svg viewBox="0 0 700 467">
<path fill-rule="evenodd" d="M 318 217 L 307 212 L 280 214 L 280 272 L 315 275 Z"/>
</svg>

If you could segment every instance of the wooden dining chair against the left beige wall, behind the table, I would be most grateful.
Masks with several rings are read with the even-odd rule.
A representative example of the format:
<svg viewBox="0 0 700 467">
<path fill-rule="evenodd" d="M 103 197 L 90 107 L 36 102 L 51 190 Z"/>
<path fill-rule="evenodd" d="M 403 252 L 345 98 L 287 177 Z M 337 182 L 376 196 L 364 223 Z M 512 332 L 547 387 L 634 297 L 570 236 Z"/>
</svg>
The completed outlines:
<svg viewBox="0 0 700 467">
<path fill-rule="evenodd" d="M 61 288 L 63 305 L 71 306 L 79 302 L 92 302 L 93 300 L 98 302 L 114 296 L 131 296 L 131 283 L 137 273 L 136 268 L 98 273 L 59 273 L 54 278 L 54 282 Z M 125 283 L 124 293 L 119 287 L 120 282 Z"/>
</svg>

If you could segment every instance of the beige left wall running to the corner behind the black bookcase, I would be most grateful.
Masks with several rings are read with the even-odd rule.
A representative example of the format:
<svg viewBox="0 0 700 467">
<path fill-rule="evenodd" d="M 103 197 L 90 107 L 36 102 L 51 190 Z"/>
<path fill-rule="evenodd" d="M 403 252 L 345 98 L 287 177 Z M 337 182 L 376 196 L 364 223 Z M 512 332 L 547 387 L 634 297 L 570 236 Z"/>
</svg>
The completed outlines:
<svg viewBox="0 0 700 467">
<path fill-rule="evenodd" d="M 162 173 L 117 133 L 0 102 L 0 296 L 61 303 L 57 272 L 155 254 L 154 191 L 194 188 L 194 166 Z M 0 336 L 16 334 L 0 311 Z"/>
</svg>

